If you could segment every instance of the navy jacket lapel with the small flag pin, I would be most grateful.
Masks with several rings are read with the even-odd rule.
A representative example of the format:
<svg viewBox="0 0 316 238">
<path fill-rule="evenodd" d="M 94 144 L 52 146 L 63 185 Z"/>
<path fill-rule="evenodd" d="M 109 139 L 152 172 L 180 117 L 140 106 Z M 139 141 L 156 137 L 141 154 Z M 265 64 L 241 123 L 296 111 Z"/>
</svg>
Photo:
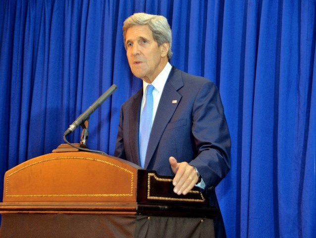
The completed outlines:
<svg viewBox="0 0 316 238">
<path fill-rule="evenodd" d="M 147 169 L 158 146 L 162 133 L 181 100 L 182 96 L 177 92 L 177 90 L 182 86 L 183 82 L 181 78 L 181 71 L 175 67 L 172 67 L 168 79 L 164 85 L 156 112 L 156 117 L 152 126 L 144 166 L 145 169 Z"/>
</svg>

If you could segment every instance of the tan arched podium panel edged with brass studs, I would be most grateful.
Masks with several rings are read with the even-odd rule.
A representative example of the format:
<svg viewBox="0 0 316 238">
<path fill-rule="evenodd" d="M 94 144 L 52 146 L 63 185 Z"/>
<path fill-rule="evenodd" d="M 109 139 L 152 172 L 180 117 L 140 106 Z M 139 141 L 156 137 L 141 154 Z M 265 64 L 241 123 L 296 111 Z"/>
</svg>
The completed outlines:
<svg viewBox="0 0 316 238">
<path fill-rule="evenodd" d="M 94 153 L 51 153 L 5 173 L 3 202 L 136 202 L 138 169 Z"/>
</svg>

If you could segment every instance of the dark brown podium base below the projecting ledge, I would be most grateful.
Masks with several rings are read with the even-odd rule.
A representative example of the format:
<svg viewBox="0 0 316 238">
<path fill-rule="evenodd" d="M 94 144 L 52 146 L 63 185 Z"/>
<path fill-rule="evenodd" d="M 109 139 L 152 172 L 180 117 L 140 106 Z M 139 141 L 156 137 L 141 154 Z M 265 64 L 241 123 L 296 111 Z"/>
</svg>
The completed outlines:
<svg viewBox="0 0 316 238">
<path fill-rule="evenodd" d="M 138 214 L 2 214 L 0 238 L 210 238 L 213 220 Z"/>
</svg>

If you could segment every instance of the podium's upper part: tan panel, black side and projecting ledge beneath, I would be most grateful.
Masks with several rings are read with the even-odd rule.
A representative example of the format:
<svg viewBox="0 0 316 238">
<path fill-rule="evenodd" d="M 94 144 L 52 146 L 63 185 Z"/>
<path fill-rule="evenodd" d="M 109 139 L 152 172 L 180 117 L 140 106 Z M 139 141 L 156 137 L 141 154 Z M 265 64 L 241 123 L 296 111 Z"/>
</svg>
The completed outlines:
<svg viewBox="0 0 316 238">
<path fill-rule="evenodd" d="M 140 213 L 214 217 L 198 188 L 173 192 L 172 177 L 90 152 L 50 153 L 4 175 L 0 213 Z M 178 215 L 177 215 L 178 214 Z"/>
</svg>

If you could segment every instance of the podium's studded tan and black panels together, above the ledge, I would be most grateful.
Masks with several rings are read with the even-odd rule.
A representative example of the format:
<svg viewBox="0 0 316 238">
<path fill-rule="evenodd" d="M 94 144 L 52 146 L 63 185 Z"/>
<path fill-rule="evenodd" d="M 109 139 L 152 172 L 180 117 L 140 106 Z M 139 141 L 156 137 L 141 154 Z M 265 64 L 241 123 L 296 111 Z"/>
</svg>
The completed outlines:
<svg viewBox="0 0 316 238">
<path fill-rule="evenodd" d="M 5 173 L 3 202 L 208 204 L 198 188 L 175 194 L 172 179 L 113 156 L 50 153 Z"/>
</svg>

